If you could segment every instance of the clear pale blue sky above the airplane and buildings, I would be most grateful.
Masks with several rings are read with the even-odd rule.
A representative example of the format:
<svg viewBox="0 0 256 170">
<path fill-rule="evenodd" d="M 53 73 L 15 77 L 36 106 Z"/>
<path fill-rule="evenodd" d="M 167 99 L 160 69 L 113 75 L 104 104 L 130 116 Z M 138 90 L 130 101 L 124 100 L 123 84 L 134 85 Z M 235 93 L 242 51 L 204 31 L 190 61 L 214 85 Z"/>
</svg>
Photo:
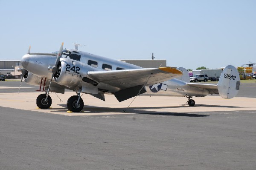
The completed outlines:
<svg viewBox="0 0 256 170">
<path fill-rule="evenodd" d="M 196 69 L 256 63 L 256 0 L 0 0 L 0 59 L 80 50 Z"/>
</svg>

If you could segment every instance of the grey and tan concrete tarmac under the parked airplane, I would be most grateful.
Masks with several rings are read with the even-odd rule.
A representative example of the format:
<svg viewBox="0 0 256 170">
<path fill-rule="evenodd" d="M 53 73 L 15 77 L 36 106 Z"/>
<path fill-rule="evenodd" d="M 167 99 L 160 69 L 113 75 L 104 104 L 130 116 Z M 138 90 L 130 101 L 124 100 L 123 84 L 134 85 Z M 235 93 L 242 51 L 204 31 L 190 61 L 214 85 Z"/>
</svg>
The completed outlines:
<svg viewBox="0 0 256 170">
<path fill-rule="evenodd" d="M 17 95 L 6 90 L 14 84 L 0 84 L 0 170 L 254 170 L 255 84 L 244 85 L 250 98 L 193 98 L 195 107 L 140 96 L 127 109 L 132 99 L 83 95 L 83 112 L 70 113 L 75 92 L 58 94 L 61 101 L 51 93 L 52 109 L 37 109 L 36 87 L 24 83 Z"/>
</svg>

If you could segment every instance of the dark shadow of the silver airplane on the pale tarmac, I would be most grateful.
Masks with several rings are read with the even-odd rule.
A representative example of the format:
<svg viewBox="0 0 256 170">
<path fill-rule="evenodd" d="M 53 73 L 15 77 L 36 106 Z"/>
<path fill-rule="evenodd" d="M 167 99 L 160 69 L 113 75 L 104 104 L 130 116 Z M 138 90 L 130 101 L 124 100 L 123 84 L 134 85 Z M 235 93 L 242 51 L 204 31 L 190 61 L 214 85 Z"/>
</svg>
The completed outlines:
<svg viewBox="0 0 256 170">
<path fill-rule="evenodd" d="M 61 108 L 57 111 L 53 112 L 63 112 L 67 110 L 66 105 L 59 104 L 64 108 Z M 182 107 L 182 106 L 181 106 Z M 109 107 L 96 107 L 96 106 L 84 106 L 84 109 L 81 111 L 82 113 L 97 113 L 97 115 L 101 112 L 109 112 L 109 113 L 135 113 L 135 114 L 143 114 L 143 115 L 168 115 L 168 116 L 186 116 L 186 117 L 206 117 L 209 115 L 203 114 L 192 114 L 192 113 L 177 113 L 177 112 L 158 112 L 158 111 L 149 111 L 143 109 L 163 109 L 163 108 L 175 108 L 175 107 L 129 107 L 129 108 L 109 108 Z M 72 114 L 72 113 L 71 113 Z"/>
</svg>

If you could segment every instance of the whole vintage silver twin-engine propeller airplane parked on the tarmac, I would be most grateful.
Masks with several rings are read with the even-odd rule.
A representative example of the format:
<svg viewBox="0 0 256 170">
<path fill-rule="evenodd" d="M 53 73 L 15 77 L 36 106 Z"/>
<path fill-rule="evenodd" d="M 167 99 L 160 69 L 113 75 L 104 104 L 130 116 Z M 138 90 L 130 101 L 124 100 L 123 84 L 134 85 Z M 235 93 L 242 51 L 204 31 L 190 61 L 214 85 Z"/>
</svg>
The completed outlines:
<svg viewBox="0 0 256 170">
<path fill-rule="evenodd" d="M 112 93 L 121 102 L 148 91 L 157 95 L 186 97 L 189 106 L 194 106 L 192 96 L 219 94 L 222 98 L 233 98 L 240 86 L 239 73 L 234 66 L 224 68 L 217 85 L 189 83 L 189 74 L 182 67 L 145 69 L 79 51 L 77 44 L 75 49 L 63 50 L 62 43 L 59 51 L 54 53 L 30 53 L 29 46 L 21 64 L 21 82 L 24 78 L 26 83 L 40 85 L 40 91 L 45 92 L 36 99 L 41 109 L 47 109 L 52 104 L 49 91 L 64 93 L 65 89 L 77 94 L 67 100 L 67 108 L 72 112 L 80 112 L 84 107 L 81 93 L 103 101 L 105 93 Z"/>
</svg>

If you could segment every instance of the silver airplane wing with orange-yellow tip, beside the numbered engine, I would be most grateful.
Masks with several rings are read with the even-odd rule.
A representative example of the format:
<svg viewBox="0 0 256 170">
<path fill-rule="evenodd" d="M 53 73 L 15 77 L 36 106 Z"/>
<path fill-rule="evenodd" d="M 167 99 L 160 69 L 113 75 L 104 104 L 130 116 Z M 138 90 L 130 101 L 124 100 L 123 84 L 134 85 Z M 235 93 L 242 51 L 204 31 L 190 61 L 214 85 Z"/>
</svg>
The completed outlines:
<svg viewBox="0 0 256 170">
<path fill-rule="evenodd" d="M 172 68 L 123 69 L 113 71 L 90 71 L 88 77 L 94 81 L 127 89 L 138 85 L 152 85 L 180 77 L 182 72 Z"/>
</svg>

